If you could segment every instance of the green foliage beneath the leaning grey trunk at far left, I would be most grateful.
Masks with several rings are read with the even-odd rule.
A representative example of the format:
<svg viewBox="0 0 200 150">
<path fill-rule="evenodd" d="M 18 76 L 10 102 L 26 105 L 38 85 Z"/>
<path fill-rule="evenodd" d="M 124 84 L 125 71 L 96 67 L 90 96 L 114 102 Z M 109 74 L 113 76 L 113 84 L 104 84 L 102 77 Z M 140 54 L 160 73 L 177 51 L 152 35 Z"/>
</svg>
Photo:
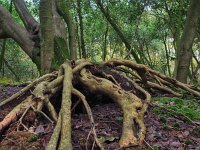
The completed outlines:
<svg viewBox="0 0 200 150">
<path fill-rule="evenodd" d="M 0 53 L 1 45 L 0 42 Z M 30 60 L 30 58 L 21 50 L 21 48 L 13 41 L 8 39 L 6 42 L 5 59 L 9 66 L 18 75 L 20 81 L 32 80 L 38 76 L 36 65 Z M 3 64 L 0 71 L 0 77 L 6 77 L 12 80 L 16 80 L 11 70 Z"/>
</svg>

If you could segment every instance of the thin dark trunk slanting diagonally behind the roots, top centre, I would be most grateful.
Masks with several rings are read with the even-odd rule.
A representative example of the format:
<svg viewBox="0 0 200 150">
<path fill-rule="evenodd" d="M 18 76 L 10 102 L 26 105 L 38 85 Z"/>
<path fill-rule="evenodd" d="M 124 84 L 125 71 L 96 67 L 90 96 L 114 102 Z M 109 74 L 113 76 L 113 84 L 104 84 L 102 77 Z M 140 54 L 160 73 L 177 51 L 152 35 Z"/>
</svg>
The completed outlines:
<svg viewBox="0 0 200 150">
<path fill-rule="evenodd" d="M 107 21 L 111 24 L 111 26 L 113 27 L 113 29 L 116 31 L 116 33 L 119 35 L 119 37 L 121 38 L 121 40 L 123 41 L 123 43 L 125 44 L 126 48 L 128 49 L 128 51 L 131 52 L 131 54 L 133 55 L 135 61 L 137 63 L 140 63 L 140 59 L 137 55 L 137 53 L 132 49 L 128 39 L 125 37 L 125 35 L 123 34 L 123 32 L 121 31 L 120 27 L 116 24 L 116 22 L 112 19 L 111 15 L 109 14 L 108 11 L 106 11 L 101 3 L 101 0 L 95 0 L 96 4 L 98 5 L 99 9 L 101 10 L 101 12 L 104 14 L 104 16 L 106 17 Z"/>
</svg>

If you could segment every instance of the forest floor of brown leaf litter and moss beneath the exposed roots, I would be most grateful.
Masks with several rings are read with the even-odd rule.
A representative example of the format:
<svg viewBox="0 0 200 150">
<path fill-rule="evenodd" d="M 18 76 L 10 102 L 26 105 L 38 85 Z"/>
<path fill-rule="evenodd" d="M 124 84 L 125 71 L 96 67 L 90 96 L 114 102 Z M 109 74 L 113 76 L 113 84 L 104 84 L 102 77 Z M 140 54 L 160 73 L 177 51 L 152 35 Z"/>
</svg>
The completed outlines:
<svg viewBox="0 0 200 150">
<path fill-rule="evenodd" d="M 0 85 L 0 100 L 19 91 L 24 85 Z M 102 98 L 102 97 L 101 97 Z M 105 98 L 105 97 L 104 97 Z M 96 99 L 96 98 L 95 98 Z M 154 100 L 162 106 L 172 106 L 193 118 L 200 125 L 199 101 L 178 100 L 170 95 L 159 95 Z M 18 100 L 20 101 L 20 100 Z M 105 101 L 104 101 L 105 102 Z M 98 102 L 93 105 L 92 112 L 98 137 L 104 142 L 106 150 L 119 150 L 123 116 L 119 107 L 111 101 Z M 0 109 L 0 121 L 12 110 L 15 103 L 9 103 Z M 187 109 L 186 109 L 187 108 Z M 191 108 L 191 109 L 189 109 Z M 191 112 L 191 110 L 195 110 Z M 84 110 L 76 108 L 72 115 L 72 143 L 75 150 L 92 149 L 94 140 L 91 133 L 91 123 Z M 0 137 L 0 150 L 5 149 L 45 149 L 53 132 L 53 125 L 44 117 L 37 117 L 29 111 L 23 119 L 29 127 L 29 132 L 19 127 L 17 122 L 11 124 Z M 180 116 L 156 107 L 149 107 L 145 116 L 147 134 L 143 147 L 135 149 L 154 150 L 200 150 L 200 126 L 194 127 Z M 17 131 L 18 128 L 18 131 Z M 34 128 L 34 129 L 33 129 Z M 33 134 L 30 131 L 34 130 Z M 94 148 L 96 149 L 96 148 Z"/>
</svg>

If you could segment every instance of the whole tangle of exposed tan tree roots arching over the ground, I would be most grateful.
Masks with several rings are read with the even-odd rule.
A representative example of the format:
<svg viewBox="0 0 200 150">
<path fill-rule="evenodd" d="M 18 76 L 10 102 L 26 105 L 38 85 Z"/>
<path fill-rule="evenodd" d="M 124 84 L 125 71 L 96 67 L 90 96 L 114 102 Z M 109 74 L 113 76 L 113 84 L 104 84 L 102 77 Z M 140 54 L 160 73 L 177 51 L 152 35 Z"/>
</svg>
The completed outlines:
<svg viewBox="0 0 200 150">
<path fill-rule="evenodd" d="M 151 103 L 152 92 L 163 91 L 174 96 L 181 96 L 180 91 L 186 90 L 200 97 L 200 90 L 198 88 L 183 84 L 145 65 L 136 64 L 132 61 L 110 60 L 101 65 L 92 64 L 84 59 L 71 62 L 66 61 L 58 72 L 44 75 L 0 103 L 0 106 L 3 106 L 36 85 L 30 96 L 13 108 L 0 122 L 0 132 L 9 124 L 19 119 L 20 116 L 20 125 L 28 130 L 28 127 L 23 124 L 23 118 L 28 110 L 32 108 L 35 112 L 41 113 L 50 122 L 56 124 L 46 149 L 70 150 L 72 149 L 71 111 L 76 107 L 77 103 L 82 102 L 91 122 L 94 144 L 103 150 L 103 143 L 98 139 L 94 126 L 95 120 L 86 97 L 82 94 L 82 91 L 74 88 L 80 84 L 92 93 L 107 95 L 121 108 L 123 112 L 123 127 L 119 140 L 120 147 L 137 146 L 144 142 L 146 134 L 144 115 L 149 104 L 155 105 Z M 55 99 L 56 94 L 62 95 L 62 98 Z M 74 107 L 72 107 L 71 101 L 72 94 L 79 98 Z M 58 106 L 54 104 L 55 102 L 60 103 L 61 107 L 57 108 Z M 43 112 L 44 107 L 47 113 Z M 189 120 L 189 118 L 187 119 Z M 138 125 L 138 130 L 133 130 L 134 123 Z"/>
</svg>

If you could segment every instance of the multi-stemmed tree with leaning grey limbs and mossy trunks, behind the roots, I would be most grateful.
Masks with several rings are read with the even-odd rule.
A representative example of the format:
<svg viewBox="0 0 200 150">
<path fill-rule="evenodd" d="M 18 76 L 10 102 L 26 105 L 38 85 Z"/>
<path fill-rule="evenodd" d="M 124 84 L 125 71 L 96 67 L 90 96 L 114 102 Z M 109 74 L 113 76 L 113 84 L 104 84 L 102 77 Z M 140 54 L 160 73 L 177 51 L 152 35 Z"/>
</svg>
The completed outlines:
<svg viewBox="0 0 200 150">
<path fill-rule="evenodd" d="M 0 38 L 12 38 L 15 40 L 37 65 L 38 69 L 43 70 L 43 73 L 56 68 L 66 58 L 77 58 L 76 36 L 74 36 L 76 32 L 71 14 L 68 11 L 69 8 L 63 5 L 62 1 L 45 2 L 40 2 L 41 25 L 39 26 L 39 23 L 28 11 L 24 1 L 13 1 L 25 28 L 20 26 L 5 8 L 0 6 L 2 14 L 0 19 Z M 65 24 L 61 16 L 67 23 L 69 40 L 67 39 Z M 49 46 L 45 43 L 48 43 L 47 45 Z"/>
</svg>

